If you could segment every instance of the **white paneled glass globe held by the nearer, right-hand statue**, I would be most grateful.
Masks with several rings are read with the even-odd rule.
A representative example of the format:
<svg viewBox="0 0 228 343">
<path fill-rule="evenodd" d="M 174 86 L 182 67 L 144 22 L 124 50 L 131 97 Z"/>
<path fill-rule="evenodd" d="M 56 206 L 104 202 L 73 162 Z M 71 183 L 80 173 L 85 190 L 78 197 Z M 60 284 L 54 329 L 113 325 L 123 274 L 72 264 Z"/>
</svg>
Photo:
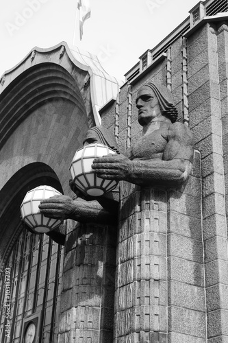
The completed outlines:
<svg viewBox="0 0 228 343">
<path fill-rule="evenodd" d="M 77 189 L 86 196 L 102 196 L 116 188 L 117 181 L 99 178 L 91 167 L 94 158 L 107 154 L 116 152 L 100 143 L 86 145 L 75 153 L 70 167 L 71 177 Z"/>
</svg>

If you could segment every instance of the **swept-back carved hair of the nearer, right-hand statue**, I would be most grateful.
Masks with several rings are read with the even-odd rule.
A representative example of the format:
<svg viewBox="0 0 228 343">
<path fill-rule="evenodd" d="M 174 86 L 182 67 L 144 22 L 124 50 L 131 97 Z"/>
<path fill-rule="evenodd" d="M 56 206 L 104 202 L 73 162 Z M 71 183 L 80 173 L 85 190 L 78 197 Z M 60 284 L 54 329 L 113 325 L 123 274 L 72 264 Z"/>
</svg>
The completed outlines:
<svg viewBox="0 0 228 343">
<path fill-rule="evenodd" d="M 160 104 L 162 115 L 167 115 L 168 117 L 170 117 L 172 123 L 175 123 L 175 121 L 177 120 L 178 112 L 177 108 L 173 104 L 173 95 L 169 91 L 169 89 L 163 84 L 157 84 L 155 82 L 144 84 L 143 87 L 145 86 L 150 87 L 155 93 Z"/>
</svg>

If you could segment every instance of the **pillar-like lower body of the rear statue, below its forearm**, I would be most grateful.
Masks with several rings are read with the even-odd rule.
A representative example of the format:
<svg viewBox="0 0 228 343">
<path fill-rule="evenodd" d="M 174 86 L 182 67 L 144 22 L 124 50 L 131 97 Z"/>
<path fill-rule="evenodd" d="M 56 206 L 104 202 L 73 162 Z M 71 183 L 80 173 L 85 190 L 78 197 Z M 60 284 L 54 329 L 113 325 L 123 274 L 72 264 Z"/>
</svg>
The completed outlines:
<svg viewBox="0 0 228 343">
<path fill-rule="evenodd" d="M 116 228 L 68 220 L 59 343 L 113 341 Z"/>
</svg>

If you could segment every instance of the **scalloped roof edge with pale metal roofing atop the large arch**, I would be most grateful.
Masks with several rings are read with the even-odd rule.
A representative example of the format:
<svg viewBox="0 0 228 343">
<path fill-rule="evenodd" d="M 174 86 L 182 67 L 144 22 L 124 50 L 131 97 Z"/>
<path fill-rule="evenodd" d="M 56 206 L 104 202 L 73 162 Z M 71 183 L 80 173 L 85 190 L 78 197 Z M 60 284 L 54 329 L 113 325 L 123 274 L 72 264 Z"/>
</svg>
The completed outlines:
<svg viewBox="0 0 228 343">
<path fill-rule="evenodd" d="M 68 60 L 71 61 L 73 66 L 88 73 L 88 78 L 86 80 L 90 82 L 90 97 L 94 121 L 97 126 L 100 126 L 101 117 L 99 115 L 99 109 L 103 107 L 111 97 L 116 97 L 120 84 L 116 78 L 105 72 L 97 56 L 92 55 L 87 51 L 79 50 L 77 47 L 71 49 L 66 42 L 61 42 L 58 45 L 49 48 L 34 47 L 31 49 L 21 62 L 18 62 L 16 66 L 3 73 L 0 79 L 0 94 L 3 93 L 5 88 L 7 88 L 12 81 L 16 80 L 19 75 L 24 71 L 29 70 L 31 67 L 34 67 L 34 65 L 50 62 L 59 64 L 66 69 L 66 63 L 62 62 L 64 54 L 68 56 Z M 50 56 L 48 59 L 47 55 Z M 67 68 L 68 72 L 71 73 L 72 68 L 70 67 L 70 64 Z"/>
</svg>

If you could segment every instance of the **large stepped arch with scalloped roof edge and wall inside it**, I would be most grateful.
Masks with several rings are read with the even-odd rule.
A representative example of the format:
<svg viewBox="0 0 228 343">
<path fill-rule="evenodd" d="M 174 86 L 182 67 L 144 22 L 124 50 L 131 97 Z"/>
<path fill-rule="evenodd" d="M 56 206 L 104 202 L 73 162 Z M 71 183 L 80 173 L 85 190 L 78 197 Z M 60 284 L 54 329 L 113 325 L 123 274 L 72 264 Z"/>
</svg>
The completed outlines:
<svg viewBox="0 0 228 343">
<path fill-rule="evenodd" d="M 32 49 L 1 78 L 0 189 L 23 166 L 41 162 L 56 171 L 66 192 L 75 150 L 117 91 L 96 56 L 64 42 Z"/>
</svg>

